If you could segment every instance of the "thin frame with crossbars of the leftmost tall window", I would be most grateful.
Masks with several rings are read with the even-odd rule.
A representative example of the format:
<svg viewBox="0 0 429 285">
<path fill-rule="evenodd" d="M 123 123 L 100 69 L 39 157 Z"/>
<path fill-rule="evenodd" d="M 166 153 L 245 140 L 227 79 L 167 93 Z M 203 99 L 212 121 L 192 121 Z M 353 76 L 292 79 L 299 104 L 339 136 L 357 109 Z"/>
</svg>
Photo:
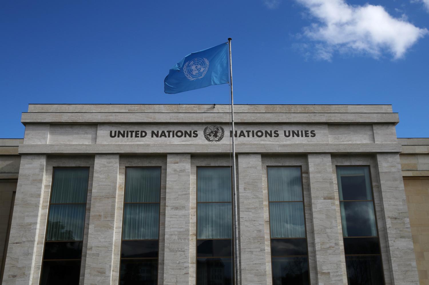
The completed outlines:
<svg viewBox="0 0 429 285">
<path fill-rule="evenodd" d="M 51 198 L 52 198 L 52 189 L 54 187 L 54 179 L 55 179 L 55 169 L 76 169 L 76 168 L 80 168 L 80 169 L 88 169 L 88 185 L 86 188 L 86 199 L 85 199 L 85 203 L 54 203 L 54 205 L 64 205 L 64 204 L 71 204 L 71 205 L 83 205 L 85 204 L 85 217 L 83 220 L 83 237 L 82 237 L 82 252 L 81 252 L 81 258 L 73 258 L 73 259 L 48 259 L 47 261 L 77 261 L 80 260 L 80 267 L 79 267 L 79 279 L 80 279 L 80 275 L 81 275 L 81 271 L 82 271 L 82 254 L 83 254 L 83 242 L 85 240 L 85 223 L 86 223 L 86 216 L 87 216 L 87 210 L 88 210 L 88 190 L 89 190 L 89 183 L 90 183 L 90 172 L 91 172 L 91 167 L 90 166 L 54 166 L 52 167 L 52 179 L 51 179 L 51 186 L 49 189 L 49 201 L 48 201 L 48 212 L 46 215 L 46 225 L 45 225 L 45 237 L 43 240 L 43 251 L 42 251 L 42 264 L 40 265 L 40 276 L 39 276 L 39 284 L 42 283 L 42 273 L 43 273 L 43 262 L 45 261 L 45 246 L 46 246 L 46 242 L 58 242 L 55 240 L 46 240 L 47 234 L 48 234 L 48 223 L 49 223 L 49 213 L 51 211 Z M 60 242 L 75 242 L 76 240 L 61 240 Z M 79 240 L 80 241 L 80 240 Z"/>
</svg>

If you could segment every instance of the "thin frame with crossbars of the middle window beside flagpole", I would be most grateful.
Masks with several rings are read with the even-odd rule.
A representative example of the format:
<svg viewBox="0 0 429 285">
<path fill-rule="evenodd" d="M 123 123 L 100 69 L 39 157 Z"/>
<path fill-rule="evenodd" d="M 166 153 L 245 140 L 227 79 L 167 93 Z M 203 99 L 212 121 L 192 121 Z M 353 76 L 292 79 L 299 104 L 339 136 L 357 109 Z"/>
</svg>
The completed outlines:
<svg viewBox="0 0 429 285">
<path fill-rule="evenodd" d="M 230 174 L 231 174 L 231 201 L 230 202 L 198 202 L 198 168 L 230 168 Z M 232 282 L 231 285 L 235 285 L 235 259 L 234 259 L 234 252 L 235 252 L 235 243 L 234 243 L 234 207 L 233 207 L 233 167 L 231 165 L 203 165 L 203 166 L 196 166 L 195 171 L 195 198 L 196 198 L 196 207 L 195 207 L 195 284 L 198 285 L 198 240 L 231 240 L 231 256 L 212 256 L 212 257 L 200 257 L 200 258 L 231 258 L 232 263 Z M 198 238 L 198 203 L 230 203 L 231 204 L 231 238 L 215 238 L 215 239 L 199 239 Z"/>
</svg>

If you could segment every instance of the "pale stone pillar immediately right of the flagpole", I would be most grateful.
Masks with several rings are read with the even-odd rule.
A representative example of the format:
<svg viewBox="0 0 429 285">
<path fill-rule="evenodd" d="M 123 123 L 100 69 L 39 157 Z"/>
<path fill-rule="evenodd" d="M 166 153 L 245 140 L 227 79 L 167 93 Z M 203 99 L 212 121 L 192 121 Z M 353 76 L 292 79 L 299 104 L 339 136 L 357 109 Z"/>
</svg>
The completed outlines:
<svg viewBox="0 0 429 285">
<path fill-rule="evenodd" d="M 267 284 L 262 161 L 239 154 L 239 230 L 242 285 Z"/>
</svg>

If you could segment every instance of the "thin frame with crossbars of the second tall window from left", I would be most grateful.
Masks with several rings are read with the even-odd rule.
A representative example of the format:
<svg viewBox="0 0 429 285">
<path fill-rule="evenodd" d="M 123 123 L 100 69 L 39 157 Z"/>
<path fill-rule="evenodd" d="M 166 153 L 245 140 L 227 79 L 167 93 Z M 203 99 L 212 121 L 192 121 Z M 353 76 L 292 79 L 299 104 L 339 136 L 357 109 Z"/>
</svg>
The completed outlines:
<svg viewBox="0 0 429 285">
<path fill-rule="evenodd" d="M 160 170 L 160 189 L 159 189 L 159 199 L 158 202 L 125 202 L 125 195 L 127 191 L 127 168 L 159 168 Z M 151 259 L 157 260 L 157 278 L 156 278 L 156 284 L 158 284 L 158 274 L 159 274 L 159 256 L 160 256 L 160 227 L 161 227 L 161 192 L 162 192 L 162 166 L 125 166 L 125 172 L 124 172 L 124 196 L 122 201 L 122 223 L 121 223 L 121 248 L 119 250 L 119 273 L 118 273 L 118 285 L 121 284 L 121 264 L 122 264 L 122 242 L 123 241 L 130 241 L 130 240 L 123 240 L 123 234 L 124 234 L 124 211 L 125 211 L 125 204 L 158 204 L 158 250 L 157 250 L 157 257 L 145 257 L 145 258 L 124 258 L 127 260 L 143 260 L 143 259 Z M 147 239 L 147 240 L 155 240 L 155 239 Z M 138 241 L 138 240 L 135 240 Z"/>
</svg>

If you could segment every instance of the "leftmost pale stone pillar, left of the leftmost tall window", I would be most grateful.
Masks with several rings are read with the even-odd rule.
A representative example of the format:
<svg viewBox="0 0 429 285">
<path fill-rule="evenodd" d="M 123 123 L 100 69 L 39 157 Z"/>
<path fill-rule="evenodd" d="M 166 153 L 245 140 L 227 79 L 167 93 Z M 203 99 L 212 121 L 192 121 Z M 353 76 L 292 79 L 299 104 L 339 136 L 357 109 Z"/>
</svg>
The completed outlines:
<svg viewBox="0 0 429 285">
<path fill-rule="evenodd" d="M 40 270 L 34 260 L 38 239 L 45 236 L 39 234 L 39 224 L 46 223 L 40 220 L 45 168 L 45 155 L 21 156 L 3 285 L 32 284 L 34 270 Z"/>
</svg>

